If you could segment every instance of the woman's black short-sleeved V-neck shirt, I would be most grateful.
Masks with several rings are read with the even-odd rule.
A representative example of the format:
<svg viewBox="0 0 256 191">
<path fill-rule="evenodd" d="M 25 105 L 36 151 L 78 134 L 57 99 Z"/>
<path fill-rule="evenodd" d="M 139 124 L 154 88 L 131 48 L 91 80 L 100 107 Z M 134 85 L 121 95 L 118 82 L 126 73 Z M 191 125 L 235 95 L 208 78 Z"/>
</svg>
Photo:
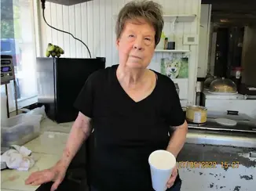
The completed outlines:
<svg viewBox="0 0 256 191">
<path fill-rule="evenodd" d="M 170 126 L 183 124 L 185 116 L 169 77 L 154 71 L 153 92 L 135 102 L 119 84 L 117 67 L 91 74 L 75 101 L 94 128 L 90 179 L 100 191 L 152 191 L 148 157 L 166 150 Z"/>
</svg>

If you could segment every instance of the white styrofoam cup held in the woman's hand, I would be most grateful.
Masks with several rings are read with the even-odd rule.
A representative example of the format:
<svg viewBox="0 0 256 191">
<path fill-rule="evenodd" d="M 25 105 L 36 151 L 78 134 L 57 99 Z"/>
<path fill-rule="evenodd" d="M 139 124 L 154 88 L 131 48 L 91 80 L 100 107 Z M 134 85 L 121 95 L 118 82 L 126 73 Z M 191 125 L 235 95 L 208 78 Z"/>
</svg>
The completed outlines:
<svg viewBox="0 0 256 191">
<path fill-rule="evenodd" d="M 148 157 L 150 165 L 152 187 L 155 191 L 165 191 L 166 184 L 176 165 L 174 155 L 166 150 L 155 150 Z"/>
</svg>

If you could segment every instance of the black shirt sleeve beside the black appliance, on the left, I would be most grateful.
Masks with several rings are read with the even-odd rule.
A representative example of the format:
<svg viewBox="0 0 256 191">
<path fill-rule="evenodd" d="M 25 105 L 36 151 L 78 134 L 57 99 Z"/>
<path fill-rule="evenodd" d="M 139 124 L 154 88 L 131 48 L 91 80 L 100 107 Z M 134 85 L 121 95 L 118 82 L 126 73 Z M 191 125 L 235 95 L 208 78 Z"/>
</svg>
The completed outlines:
<svg viewBox="0 0 256 191">
<path fill-rule="evenodd" d="M 86 117 L 93 117 L 93 77 L 92 74 L 87 78 L 78 97 L 75 100 L 75 109 L 79 110 Z"/>
</svg>

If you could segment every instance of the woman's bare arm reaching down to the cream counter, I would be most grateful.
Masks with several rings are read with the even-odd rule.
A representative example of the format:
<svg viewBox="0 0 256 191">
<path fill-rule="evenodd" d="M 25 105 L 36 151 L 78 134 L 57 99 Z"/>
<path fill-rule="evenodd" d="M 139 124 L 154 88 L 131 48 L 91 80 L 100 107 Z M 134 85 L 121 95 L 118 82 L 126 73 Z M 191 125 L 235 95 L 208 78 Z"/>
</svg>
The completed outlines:
<svg viewBox="0 0 256 191">
<path fill-rule="evenodd" d="M 68 168 L 71 160 L 75 157 L 75 154 L 82 146 L 82 142 L 90 136 L 90 133 L 92 132 L 90 121 L 90 117 L 86 117 L 84 114 L 79 112 L 79 115 L 71 128 L 68 142 L 60 159 L 60 163 L 65 167 Z"/>
</svg>

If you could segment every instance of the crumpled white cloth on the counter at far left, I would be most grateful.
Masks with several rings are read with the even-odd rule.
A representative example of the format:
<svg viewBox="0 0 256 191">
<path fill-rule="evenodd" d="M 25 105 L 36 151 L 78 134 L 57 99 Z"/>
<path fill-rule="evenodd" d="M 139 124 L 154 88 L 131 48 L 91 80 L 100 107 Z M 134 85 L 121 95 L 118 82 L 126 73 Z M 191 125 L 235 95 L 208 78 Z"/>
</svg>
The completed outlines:
<svg viewBox="0 0 256 191">
<path fill-rule="evenodd" d="M 31 156 L 31 150 L 25 146 L 10 146 L 1 156 L 1 162 L 5 162 L 8 168 L 17 171 L 27 171 L 35 164 L 35 159 Z"/>
</svg>

